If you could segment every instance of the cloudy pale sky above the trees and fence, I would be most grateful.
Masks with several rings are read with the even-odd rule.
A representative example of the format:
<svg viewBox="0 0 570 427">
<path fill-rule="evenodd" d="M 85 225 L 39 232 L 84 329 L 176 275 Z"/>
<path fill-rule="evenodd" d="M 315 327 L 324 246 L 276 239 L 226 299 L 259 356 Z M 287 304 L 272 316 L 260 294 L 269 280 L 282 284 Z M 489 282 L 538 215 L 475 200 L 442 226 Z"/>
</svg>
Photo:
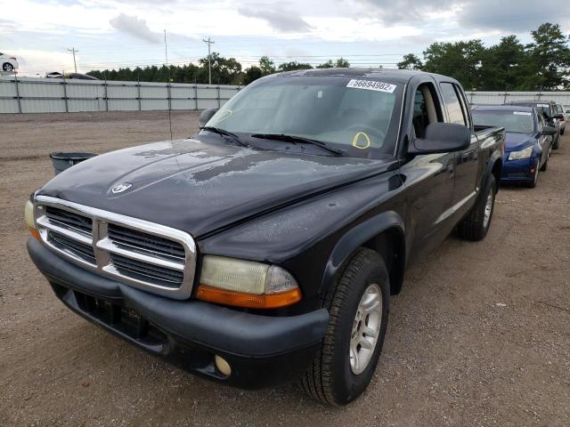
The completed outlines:
<svg viewBox="0 0 570 427">
<path fill-rule="evenodd" d="M 165 63 L 213 52 L 244 68 L 263 55 L 278 65 L 344 57 L 352 66 L 395 68 L 435 42 L 515 34 L 530 42 L 542 22 L 570 30 L 570 4 L 550 0 L 0 0 L 0 52 L 22 76 Z"/>
</svg>

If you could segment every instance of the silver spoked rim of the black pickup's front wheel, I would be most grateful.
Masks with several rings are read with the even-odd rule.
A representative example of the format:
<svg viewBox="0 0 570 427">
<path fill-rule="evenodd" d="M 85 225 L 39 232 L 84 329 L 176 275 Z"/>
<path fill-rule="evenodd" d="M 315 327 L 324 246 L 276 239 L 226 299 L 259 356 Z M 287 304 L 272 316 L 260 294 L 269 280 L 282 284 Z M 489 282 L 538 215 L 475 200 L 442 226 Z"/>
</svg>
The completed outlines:
<svg viewBox="0 0 570 427">
<path fill-rule="evenodd" d="M 354 375 L 368 367 L 376 349 L 382 325 L 382 291 L 375 283 L 362 294 L 354 315 L 350 336 L 350 369 Z"/>
</svg>

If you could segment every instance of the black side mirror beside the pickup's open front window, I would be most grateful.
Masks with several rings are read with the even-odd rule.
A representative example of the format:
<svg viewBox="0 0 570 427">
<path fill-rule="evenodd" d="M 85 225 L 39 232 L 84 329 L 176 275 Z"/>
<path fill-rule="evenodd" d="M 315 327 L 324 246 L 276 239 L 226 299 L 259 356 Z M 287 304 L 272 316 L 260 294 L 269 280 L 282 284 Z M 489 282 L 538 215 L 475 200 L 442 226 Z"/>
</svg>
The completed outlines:
<svg viewBox="0 0 570 427">
<path fill-rule="evenodd" d="M 471 130 L 465 125 L 432 123 L 426 128 L 425 138 L 411 141 L 409 154 L 448 153 L 468 149 L 471 143 Z"/>
</svg>

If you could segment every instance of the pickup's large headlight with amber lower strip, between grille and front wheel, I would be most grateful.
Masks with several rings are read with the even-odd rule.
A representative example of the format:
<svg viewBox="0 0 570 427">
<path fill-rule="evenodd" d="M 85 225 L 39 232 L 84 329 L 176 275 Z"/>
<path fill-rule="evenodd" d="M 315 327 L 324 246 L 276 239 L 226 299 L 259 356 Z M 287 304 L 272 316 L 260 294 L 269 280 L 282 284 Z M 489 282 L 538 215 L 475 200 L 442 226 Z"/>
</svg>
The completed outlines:
<svg viewBox="0 0 570 427">
<path fill-rule="evenodd" d="M 197 298 L 226 305 L 273 309 L 301 299 L 295 278 L 276 265 L 206 255 Z"/>
</svg>

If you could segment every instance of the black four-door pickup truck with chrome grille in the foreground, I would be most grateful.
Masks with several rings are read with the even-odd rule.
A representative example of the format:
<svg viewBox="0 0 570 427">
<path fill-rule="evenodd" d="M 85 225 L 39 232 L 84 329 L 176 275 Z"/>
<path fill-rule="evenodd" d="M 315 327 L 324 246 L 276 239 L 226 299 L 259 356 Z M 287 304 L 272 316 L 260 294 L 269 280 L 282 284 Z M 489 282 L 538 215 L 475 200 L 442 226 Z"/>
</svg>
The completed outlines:
<svg viewBox="0 0 570 427">
<path fill-rule="evenodd" d="M 200 125 L 37 189 L 29 256 L 69 309 L 177 366 L 346 404 L 406 267 L 453 229 L 485 238 L 503 130 L 474 128 L 452 78 L 371 68 L 265 77 Z"/>
</svg>

